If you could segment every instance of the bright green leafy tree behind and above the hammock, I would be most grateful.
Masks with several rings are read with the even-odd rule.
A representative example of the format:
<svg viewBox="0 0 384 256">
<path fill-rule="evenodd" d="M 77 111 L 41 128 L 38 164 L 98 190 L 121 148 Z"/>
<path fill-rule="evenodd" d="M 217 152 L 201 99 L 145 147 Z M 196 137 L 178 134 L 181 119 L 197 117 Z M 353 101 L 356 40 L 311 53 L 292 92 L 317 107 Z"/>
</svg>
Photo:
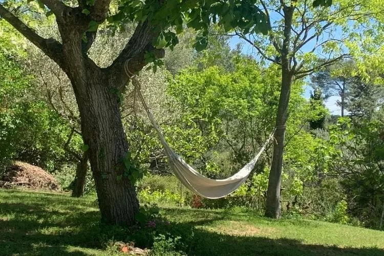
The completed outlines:
<svg viewBox="0 0 384 256">
<path fill-rule="evenodd" d="M 222 155 L 223 150 L 228 152 L 225 147 L 231 147 L 233 167 L 249 160 L 257 148 L 255 142 L 265 139 L 257 131 L 272 130 L 271 113 L 276 110 L 279 83 L 278 73 L 273 72 L 275 67 L 264 73 L 271 74 L 270 77 L 261 75 L 252 60 L 232 61 L 236 63 L 236 70 L 231 73 L 218 67 L 203 71 L 189 68 L 169 79 L 168 93 L 181 107 L 178 123 L 182 125 L 165 127 L 168 141 L 174 143 L 173 138 L 179 138 L 183 144 L 172 146 L 187 160 L 201 159 L 211 150 L 210 158 L 205 157 L 202 166 L 209 169 L 209 174 L 207 170 L 204 172 L 210 177 L 218 176 L 218 167 L 223 169 L 224 163 L 218 166 L 212 160 L 225 156 Z M 221 177 L 225 175 L 227 173 L 220 172 Z"/>
</svg>

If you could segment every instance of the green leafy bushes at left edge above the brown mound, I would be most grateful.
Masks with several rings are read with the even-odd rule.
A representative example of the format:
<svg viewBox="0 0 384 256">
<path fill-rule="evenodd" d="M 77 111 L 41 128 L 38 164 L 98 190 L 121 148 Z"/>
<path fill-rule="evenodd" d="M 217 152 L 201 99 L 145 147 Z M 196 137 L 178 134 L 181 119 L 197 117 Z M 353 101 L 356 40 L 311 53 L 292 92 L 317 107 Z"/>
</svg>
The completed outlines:
<svg viewBox="0 0 384 256">
<path fill-rule="evenodd" d="M 0 159 L 12 159 L 53 172 L 71 159 L 63 145 L 69 127 L 44 101 L 34 98 L 33 77 L 0 52 Z"/>
</svg>

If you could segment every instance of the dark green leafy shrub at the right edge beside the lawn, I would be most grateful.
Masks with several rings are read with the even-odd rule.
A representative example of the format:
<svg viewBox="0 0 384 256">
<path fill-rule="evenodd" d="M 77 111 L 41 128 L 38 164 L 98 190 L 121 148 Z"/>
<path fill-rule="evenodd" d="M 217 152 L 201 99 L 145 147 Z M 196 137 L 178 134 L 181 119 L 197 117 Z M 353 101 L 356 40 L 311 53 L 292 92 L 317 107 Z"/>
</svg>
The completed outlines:
<svg viewBox="0 0 384 256">
<path fill-rule="evenodd" d="M 380 119 L 360 121 L 354 125 L 350 118 L 340 118 L 330 126 L 324 148 L 328 156 L 326 174 L 341 177 L 352 216 L 366 226 L 377 227 L 384 194 L 384 141 L 380 135 L 384 123 Z"/>
</svg>

